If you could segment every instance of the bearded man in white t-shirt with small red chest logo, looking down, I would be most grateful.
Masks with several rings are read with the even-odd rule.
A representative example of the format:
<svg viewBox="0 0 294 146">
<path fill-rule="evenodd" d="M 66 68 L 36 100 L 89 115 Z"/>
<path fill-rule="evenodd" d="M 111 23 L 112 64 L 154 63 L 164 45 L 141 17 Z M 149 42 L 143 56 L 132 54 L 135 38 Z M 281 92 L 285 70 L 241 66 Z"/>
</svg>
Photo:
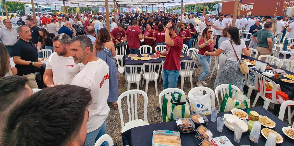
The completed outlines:
<svg viewBox="0 0 294 146">
<path fill-rule="evenodd" d="M 53 39 L 54 53 L 46 62 L 46 69 L 43 75 L 45 85 L 55 86 L 60 84 L 71 84 L 76 74 L 80 72 L 84 64 L 75 64 L 69 43 L 71 38 L 65 33 L 56 35 Z"/>
</svg>

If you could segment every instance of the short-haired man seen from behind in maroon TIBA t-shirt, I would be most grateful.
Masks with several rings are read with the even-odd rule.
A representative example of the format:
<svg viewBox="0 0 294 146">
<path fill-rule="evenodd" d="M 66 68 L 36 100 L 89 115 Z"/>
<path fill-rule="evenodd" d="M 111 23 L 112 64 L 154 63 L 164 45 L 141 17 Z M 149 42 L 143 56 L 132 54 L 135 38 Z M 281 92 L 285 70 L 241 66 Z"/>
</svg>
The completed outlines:
<svg viewBox="0 0 294 146">
<path fill-rule="evenodd" d="M 132 24 L 133 25 L 126 30 L 126 41 L 128 41 L 131 54 L 140 54 L 140 40 L 143 39 L 142 29 L 138 26 L 138 20 L 134 19 Z"/>
</svg>

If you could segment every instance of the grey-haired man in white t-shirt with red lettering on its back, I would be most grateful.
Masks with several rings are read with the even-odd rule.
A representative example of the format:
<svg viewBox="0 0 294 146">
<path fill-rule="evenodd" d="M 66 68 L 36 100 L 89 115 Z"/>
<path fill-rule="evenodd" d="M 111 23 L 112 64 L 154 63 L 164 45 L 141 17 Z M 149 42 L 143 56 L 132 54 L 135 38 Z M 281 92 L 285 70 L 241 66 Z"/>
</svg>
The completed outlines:
<svg viewBox="0 0 294 146">
<path fill-rule="evenodd" d="M 74 62 L 85 64 L 71 84 L 91 90 L 93 98 L 88 107 L 89 119 L 85 141 L 85 146 L 93 146 L 95 138 L 106 133 L 106 118 L 110 111 L 106 102 L 108 99 L 109 67 L 106 62 L 93 54 L 91 39 L 86 35 L 74 37 L 71 40 L 70 48 Z M 108 144 L 103 142 L 102 145 Z"/>
</svg>

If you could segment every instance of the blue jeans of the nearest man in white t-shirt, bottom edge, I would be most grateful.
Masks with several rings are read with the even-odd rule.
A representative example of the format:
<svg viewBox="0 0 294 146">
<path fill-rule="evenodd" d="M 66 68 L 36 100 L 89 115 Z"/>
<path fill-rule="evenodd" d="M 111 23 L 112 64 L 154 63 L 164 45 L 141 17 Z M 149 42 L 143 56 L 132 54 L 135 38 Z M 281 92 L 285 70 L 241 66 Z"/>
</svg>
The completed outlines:
<svg viewBox="0 0 294 146">
<path fill-rule="evenodd" d="M 95 142 L 98 140 L 99 137 L 104 135 L 106 133 L 106 120 L 104 123 L 99 127 L 98 129 L 87 133 L 86 135 L 86 141 L 85 141 L 85 146 L 93 146 Z M 108 142 L 103 142 L 101 146 L 108 146 Z"/>
</svg>

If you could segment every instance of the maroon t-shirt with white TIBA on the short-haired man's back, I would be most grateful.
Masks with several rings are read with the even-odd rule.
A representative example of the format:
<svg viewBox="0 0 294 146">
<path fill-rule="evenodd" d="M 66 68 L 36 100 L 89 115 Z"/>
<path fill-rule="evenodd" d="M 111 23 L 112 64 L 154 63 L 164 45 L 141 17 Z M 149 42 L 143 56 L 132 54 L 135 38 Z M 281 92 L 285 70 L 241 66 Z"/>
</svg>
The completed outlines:
<svg viewBox="0 0 294 146">
<path fill-rule="evenodd" d="M 140 48 L 140 39 L 138 35 L 142 34 L 142 29 L 139 26 L 128 27 L 125 35 L 128 36 L 128 45 L 130 49 Z"/>
</svg>

